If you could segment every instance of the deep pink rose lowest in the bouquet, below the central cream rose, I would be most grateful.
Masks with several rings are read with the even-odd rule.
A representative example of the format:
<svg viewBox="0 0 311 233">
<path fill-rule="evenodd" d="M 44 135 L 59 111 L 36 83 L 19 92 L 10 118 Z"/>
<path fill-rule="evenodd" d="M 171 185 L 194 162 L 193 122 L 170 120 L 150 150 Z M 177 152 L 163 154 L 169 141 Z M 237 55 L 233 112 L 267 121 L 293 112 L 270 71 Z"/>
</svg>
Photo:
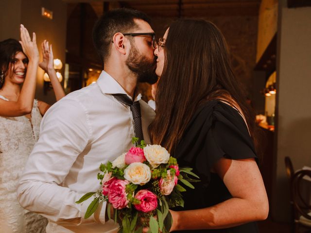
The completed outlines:
<svg viewBox="0 0 311 233">
<path fill-rule="evenodd" d="M 157 198 L 153 192 L 142 189 L 137 192 L 135 198 L 140 200 L 140 204 L 134 205 L 138 211 L 148 213 L 157 207 Z"/>
</svg>

